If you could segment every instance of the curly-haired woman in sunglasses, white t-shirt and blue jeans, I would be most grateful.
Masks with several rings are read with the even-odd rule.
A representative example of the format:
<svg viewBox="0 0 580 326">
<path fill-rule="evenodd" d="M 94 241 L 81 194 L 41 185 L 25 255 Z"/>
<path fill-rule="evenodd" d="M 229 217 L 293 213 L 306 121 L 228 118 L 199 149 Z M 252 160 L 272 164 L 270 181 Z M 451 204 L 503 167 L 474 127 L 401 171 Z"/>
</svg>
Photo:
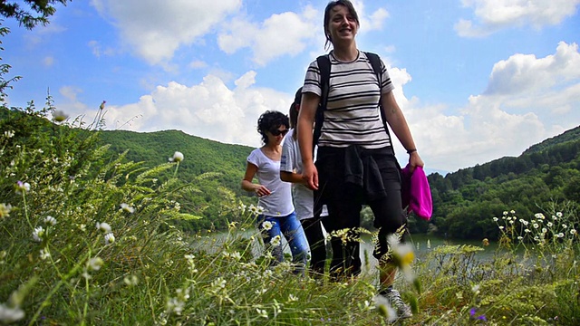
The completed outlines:
<svg viewBox="0 0 580 326">
<path fill-rule="evenodd" d="M 291 184 L 280 179 L 280 159 L 282 140 L 289 128 L 288 117 L 284 113 L 268 110 L 257 121 L 257 131 L 262 136 L 264 146 L 254 149 L 247 157 L 246 175 L 242 188 L 256 193 L 257 206 L 264 209 L 257 216 L 257 227 L 262 233 L 266 248 L 275 257 L 274 264 L 284 260 L 282 236 L 285 237 L 295 273 L 304 273 L 307 262 L 308 243 L 304 229 L 296 218 L 292 203 Z M 253 183 L 257 177 L 258 183 Z"/>
</svg>

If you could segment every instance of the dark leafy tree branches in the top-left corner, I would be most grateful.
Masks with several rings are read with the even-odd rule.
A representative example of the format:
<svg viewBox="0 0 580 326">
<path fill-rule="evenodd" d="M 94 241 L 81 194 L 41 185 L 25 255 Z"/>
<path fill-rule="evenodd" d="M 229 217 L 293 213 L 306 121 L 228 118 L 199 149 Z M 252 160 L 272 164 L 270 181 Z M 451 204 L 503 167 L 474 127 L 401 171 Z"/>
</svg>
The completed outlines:
<svg viewBox="0 0 580 326">
<path fill-rule="evenodd" d="M 63 4 L 72 0 L 0 0 L 0 14 L 6 18 L 14 18 L 26 29 L 33 29 L 37 24 L 45 26 L 49 23 L 48 17 L 56 12 L 54 4 Z"/>
</svg>

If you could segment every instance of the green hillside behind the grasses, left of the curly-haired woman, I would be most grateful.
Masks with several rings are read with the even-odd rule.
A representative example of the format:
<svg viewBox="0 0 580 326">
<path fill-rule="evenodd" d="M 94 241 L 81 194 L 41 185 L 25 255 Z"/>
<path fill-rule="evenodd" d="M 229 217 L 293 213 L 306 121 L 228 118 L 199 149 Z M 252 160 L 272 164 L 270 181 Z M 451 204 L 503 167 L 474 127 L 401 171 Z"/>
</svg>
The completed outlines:
<svg viewBox="0 0 580 326">
<path fill-rule="evenodd" d="M 195 180 L 197 190 L 184 194 L 179 201 L 184 210 L 196 211 L 204 218 L 179 222 L 184 230 L 226 230 L 231 216 L 222 214 L 219 208 L 219 198 L 224 192 L 241 197 L 247 204 L 256 201 L 240 187 L 246 158 L 251 151 L 247 146 L 223 144 L 178 130 L 150 133 L 102 130 L 99 143 L 110 145 L 113 155 L 124 153 L 128 160 L 141 162 L 143 168 L 167 162 L 175 151 L 185 156 L 179 165 L 179 179 L 186 183 Z M 198 177 L 208 173 L 206 177 Z M 160 177 L 169 177 L 169 172 Z"/>
</svg>

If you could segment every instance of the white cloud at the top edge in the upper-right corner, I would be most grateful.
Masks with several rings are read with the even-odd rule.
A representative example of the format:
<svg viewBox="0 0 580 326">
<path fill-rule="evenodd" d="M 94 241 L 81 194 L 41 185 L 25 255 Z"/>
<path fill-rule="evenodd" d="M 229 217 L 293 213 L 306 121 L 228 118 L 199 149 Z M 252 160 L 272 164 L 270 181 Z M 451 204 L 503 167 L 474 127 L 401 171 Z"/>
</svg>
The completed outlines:
<svg viewBox="0 0 580 326">
<path fill-rule="evenodd" d="M 575 14 L 580 0 L 462 0 L 464 7 L 474 10 L 475 19 L 460 19 L 455 30 L 460 36 L 480 37 L 498 30 L 531 25 L 562 23 Z"/>
</svg>

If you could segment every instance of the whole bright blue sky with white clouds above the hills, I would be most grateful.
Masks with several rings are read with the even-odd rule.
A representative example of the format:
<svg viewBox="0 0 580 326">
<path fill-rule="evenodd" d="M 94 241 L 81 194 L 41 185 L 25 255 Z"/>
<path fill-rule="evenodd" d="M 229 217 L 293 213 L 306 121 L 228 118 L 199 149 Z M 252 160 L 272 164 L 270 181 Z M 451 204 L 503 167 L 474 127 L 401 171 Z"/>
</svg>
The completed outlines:
<svg viewBox="0 0 580 326">
<path fill-rule="evenodd" d="M 106 129 L 179 129 L 260 146 L 324 53 L 326 1 L 91 0 L 33 31 L 5 20 L 12 106 L 47 92 Z M 580 124 L 580 0 L 364 0 L 357 45 L 379 53 L 430 170 L 504 156 Z M 174 150 L 168 149 L 168 155 Z M 400 146 L 400 159 L 405 158 Z M 184 153 L 188 155 L 195 153 Z"/>
</svg>

